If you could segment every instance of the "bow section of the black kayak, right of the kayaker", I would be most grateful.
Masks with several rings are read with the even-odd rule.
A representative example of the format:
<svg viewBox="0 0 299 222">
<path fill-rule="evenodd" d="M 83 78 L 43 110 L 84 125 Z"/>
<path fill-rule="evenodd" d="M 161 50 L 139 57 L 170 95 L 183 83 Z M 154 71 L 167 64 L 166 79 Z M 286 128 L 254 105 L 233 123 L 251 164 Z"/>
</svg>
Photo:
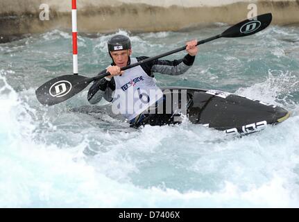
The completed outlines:
<svg viewBox="0 0 299 222">
<path fill-rule="evenodd" d="M 161 87 L 165 95 L 187 92 L 187 117 L 191 123 L 202 124 L 226 133 L 245 135 L 286 120 L 290 112 L 262 101 L 214 89 Z"/>
</svg>

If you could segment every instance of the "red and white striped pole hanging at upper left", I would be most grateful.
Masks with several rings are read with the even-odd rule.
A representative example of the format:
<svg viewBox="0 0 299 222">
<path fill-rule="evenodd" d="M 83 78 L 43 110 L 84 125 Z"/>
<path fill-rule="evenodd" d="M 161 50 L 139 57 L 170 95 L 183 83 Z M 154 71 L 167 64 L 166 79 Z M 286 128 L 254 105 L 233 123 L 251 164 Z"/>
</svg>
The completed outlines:
<svg viewBox="0 0 299 222">
<path fill-rule="evenodd" d="M 73 73 L 78 75 L 77 0 L 71 0 L 71 24 L 73 31 Z"/>
</svg>

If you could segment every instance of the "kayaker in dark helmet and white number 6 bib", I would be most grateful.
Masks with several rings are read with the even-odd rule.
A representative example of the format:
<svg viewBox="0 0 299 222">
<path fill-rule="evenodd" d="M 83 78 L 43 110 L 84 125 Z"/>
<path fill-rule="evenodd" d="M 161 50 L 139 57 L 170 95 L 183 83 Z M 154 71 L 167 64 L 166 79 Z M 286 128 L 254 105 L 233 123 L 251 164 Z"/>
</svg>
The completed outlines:
<svg viewBox="0 0 299 222">
<path fill-rule="evenodd" d="M 147 112 L 148 108 L 157 107 L 157 104 L 164 99 L 162 91 L 155 83 L 154 73 L 172 76 L 184 74 L 194 63 L 198 53 L 196 44 L 197 40 L 187 42 L 187 55 L 180 60 L 153 60 L 153 62 L 121 71 L 121 67 L 148 57 L 130 57 L 132 55 L 130 39 L 125 35 L 114 35 L 108 41 L 112 63 L 105 70 L 110 73 L 110 76 L 94 81 L 87 96 L 89 103 L 99 103 L 104 97 L 105 100 L 112 102 L 114 108 L 117 108 L 123 117 L 128 119 L 132 127 L 173 123 L 172 113 L 159 115 Z"/>
</svg>

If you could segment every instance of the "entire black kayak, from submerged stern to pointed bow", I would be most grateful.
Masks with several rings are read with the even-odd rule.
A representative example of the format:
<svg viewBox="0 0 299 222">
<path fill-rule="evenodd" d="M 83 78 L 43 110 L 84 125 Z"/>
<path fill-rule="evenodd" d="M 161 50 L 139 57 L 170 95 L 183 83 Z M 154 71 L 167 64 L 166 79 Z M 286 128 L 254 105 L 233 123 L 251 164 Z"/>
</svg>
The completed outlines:
<svg viewBox="0 0 299 222">
<path fill-rule="evenodd" d="M 228 134 L 255 133 L 269 125 L 281 123 L 290 116 L 290 112 L 284 108 L 230 92 L 189 87 L 160 87 L 160 89 L 166 97 L 171 96 L 172 103 L 178 101 L 179 109 L 184 107 L 182 98 L 186 97 L 186 101 L 184 101 L 185 114 L 191 123 L 222 130 Z M 99 119 L 101 119 L 101 114 L 108 114 L 113 119 L 120 118 L 119 120 L 124 121 L 120 114 L 112 112 L 112 103 L 101 106 L 83 105 L 80 108 L 72 108 L 71 111 L 92 114 Z M 163 126 L 181 123 L 182 119 L 174 121 L 173 116 L 177 114 L 178 119 L 180 119 L 183 116 L 182 112 L 178 114 L 176 111 L 171 111 L 172 114 L 165 112 L 165 110 L 162 114 L 151 114 L 150 118 L 144 121 L 142 125 Z"/>
</svg>

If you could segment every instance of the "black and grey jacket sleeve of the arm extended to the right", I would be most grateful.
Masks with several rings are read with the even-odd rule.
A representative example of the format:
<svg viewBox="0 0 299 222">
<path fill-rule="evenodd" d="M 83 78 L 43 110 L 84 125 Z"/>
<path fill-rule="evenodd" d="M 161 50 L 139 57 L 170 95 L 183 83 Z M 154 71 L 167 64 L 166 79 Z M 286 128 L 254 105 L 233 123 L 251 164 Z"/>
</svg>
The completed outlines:
<svg viewBox="0 0 299 222">
<path fill-rule="evenodd" d="M 137 60 L 145 60 L 148 57 L 142 56 Z M 142 69 L 146 71 L 148 76 L 153 77 L 154 73 L 166 74 L 171 76 L 178 76 L 184 74 L 194 63 L 195 56 L 187 54 L 180 60 L 153 60 L 147 64 L 141 65 Z"/>
</svg>

